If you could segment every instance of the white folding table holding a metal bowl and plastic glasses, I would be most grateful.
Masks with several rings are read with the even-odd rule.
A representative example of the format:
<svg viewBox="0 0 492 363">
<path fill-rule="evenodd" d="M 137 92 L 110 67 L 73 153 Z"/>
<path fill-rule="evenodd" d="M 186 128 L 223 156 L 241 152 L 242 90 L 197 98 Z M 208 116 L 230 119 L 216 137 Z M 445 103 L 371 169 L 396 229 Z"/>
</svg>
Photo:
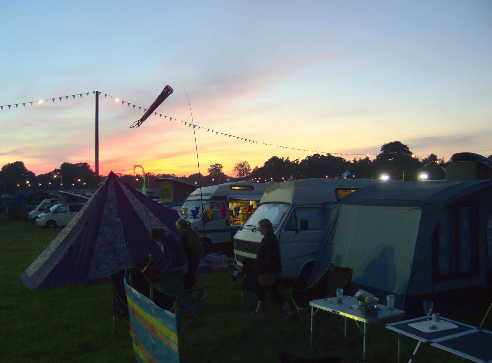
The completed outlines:
<svg viewBox="0 0 492 363">
<path fill-rule="evenodd" d="M 343 316 L 345 318 L 345 330 L 344 330 L 345 336 L 347 334 L 347 318 L 352 319 L 355 322 L 355 324 L 357 324 L 357 327 L 359 328 L 362 335 L 364 336 L 363 348 L 362 348 L 363 359 L 366 359 L 366 338 L 367 338 L 366 324 L 376 323 L 382 320 L 398 318 L 400 316 L 405 315 L 405 312 L 403 310 L 394 309 L 393 311 L 388 311 L 388 308 L 385 305 L 378 304 L 378 307 L 380 307 L 381 310 L 378 311 L 377 317 L 373 317 L 373 318 L 363 317 L 362 311 L 356 307 L 358 305 L 358 301 L 356 298 L 352 296 L 344 295 L 341 304 L 337 303 L 337 298 L 331 298 L 330 300 L 333 301 L 333 303 L 326 302 L 323 299 L 312 300 L 309 302 L 309 305 L 311 305 L 311 337 L 309 341 L 309 349 L 312 346 L 312 330 L 313 330 L 314 314 L 320 309 Z M 363 329 L 361 329 L 358 322 L 363 323 Z"/>
</svg>

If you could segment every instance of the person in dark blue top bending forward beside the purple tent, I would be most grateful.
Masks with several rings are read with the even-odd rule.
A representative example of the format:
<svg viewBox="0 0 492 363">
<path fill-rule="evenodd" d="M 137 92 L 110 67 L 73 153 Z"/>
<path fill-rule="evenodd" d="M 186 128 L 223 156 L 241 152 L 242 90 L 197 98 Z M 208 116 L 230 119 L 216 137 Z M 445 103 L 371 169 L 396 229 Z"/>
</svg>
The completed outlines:
<svg viewBox="0 0 492 363">
<path fill-rule="evenodd" d="M 182 270 L 184 276 L 188 272 L 186 255 L 174 234 L 171 231 L 164 230 L 164 228 L 153 228 L 151 230 L 151 238 L 157 243 L 169 261 L 162 272 Z"/>
</svg>

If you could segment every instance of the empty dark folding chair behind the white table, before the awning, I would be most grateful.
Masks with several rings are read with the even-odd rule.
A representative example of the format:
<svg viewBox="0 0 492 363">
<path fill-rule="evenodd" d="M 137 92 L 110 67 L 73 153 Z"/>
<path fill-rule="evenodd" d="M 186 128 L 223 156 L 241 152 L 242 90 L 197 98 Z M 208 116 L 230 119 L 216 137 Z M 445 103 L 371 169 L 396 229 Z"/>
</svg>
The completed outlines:
<svg viewBox="0 0 492 363">
<path fill-rule="evenodd" d="M 303 319 L 301 310 L 309 309 L 309 302 L 311 300 L 330 298 L 337 294 L 338 288 L 345 289 L 348 287 L 352 281 L 352 272 L 353 270 L 350 267 L 340 267 L 331 262 L 323 275 L 321 275 L 321 277 L 311 286 L 302 291 L 295 289 L 290 290 L 290 297 L 301 317 L 301 326 L 304 327 L 306 334 L 307 329 L 305 322 L 311 317 L 311 314 L 309 313 L 309 316 L 306 319 Z M 301 328 L 301 326 L 299 326 L 299 328 Z"/>
</svg>

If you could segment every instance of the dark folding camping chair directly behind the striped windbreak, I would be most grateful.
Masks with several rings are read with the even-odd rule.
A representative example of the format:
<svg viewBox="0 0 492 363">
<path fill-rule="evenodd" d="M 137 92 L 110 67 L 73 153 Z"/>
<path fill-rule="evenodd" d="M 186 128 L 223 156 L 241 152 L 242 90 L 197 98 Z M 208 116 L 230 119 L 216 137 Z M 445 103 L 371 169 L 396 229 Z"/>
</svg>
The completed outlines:
<svg viewBox="0 0 492 363">
<path fill-rule="evenodd" d="M 115 271 L 109 275 L 113 290 L 113 325 L 117 341 L 122 341 L 129 334 L 130 320 L 128 317 L 128 301 L 126 300 L 126 291 L 124 289 L 123 279 L 131 275 L 132 287 L 147 298 L 153 295 L 154 303 L 162 309 L 174 310 L 176 297 L 165 294 L 154 289 L 154 285 L 145 277 L 142 270 L 138 267 L 124 268 Z M 152 290 L 152 292 L 151 292 Z M 123 332 L 118 336 L 117 320 L 125 324 Z"/>
</svg>

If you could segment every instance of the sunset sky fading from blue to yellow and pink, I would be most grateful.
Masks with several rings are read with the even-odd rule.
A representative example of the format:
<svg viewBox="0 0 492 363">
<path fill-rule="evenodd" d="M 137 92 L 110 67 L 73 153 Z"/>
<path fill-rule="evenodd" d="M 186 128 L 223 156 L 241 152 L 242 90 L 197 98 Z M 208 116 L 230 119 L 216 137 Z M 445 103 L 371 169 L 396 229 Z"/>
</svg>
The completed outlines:
<svg viewBox="0 0 492 363">
<path fill-rule="evenodd" d="M 101 175 L 196 173 L 192 127 L 152 116 L 129 128 L 144 111 L 126 102 L 149 108 L 166 85 L 156 111 L 191 121 L 187 91 L 205 175 L 309 151 L 375 157 L 397 140 L 420 157 L 488 156 L 491 39 L 489 0 L 5 2 L 0 105 L 19 105 L 0 111 L 0 165 L 95 170 L 101 91 L 125 101 L 99 99 Z"/>
</svg>

